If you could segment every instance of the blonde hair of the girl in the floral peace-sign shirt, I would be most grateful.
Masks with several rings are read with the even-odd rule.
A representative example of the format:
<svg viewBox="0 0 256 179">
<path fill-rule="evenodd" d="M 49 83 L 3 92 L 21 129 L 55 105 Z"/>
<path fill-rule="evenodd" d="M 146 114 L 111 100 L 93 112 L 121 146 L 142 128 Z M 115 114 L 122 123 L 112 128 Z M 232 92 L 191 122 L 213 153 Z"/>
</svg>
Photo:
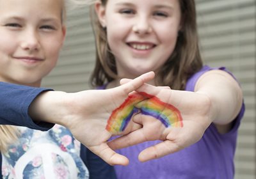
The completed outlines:
<svg viewBox="0 0 256 179">
<path fill-rule="evenodd" d="M 54 0 L 55 1 L 55 0 Z M 61 0 L 61 23 L 65 23 L 66 20 L 66 0 Z M 8 152 L 8 146 L 15 143 L 19 136 L 20 131 L 13 125 L 0 125 L 0 152 Z"/>
</svg>

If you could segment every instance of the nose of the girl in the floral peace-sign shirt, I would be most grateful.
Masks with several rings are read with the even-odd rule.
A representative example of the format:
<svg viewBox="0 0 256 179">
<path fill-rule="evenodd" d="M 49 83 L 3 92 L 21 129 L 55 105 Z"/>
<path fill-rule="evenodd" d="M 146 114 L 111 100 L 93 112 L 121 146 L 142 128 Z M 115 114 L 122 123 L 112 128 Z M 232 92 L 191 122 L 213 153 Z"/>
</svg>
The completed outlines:
<svg viewBox="0 0 256 179">
<path fill-rule="evenodd" d="M 24 31 L 22 35 L 22 43 L 20 45 L 25 51 L 38 51 L 40 49 L 40 40 L 38 33 L 33 29 Z"/>
</svg>

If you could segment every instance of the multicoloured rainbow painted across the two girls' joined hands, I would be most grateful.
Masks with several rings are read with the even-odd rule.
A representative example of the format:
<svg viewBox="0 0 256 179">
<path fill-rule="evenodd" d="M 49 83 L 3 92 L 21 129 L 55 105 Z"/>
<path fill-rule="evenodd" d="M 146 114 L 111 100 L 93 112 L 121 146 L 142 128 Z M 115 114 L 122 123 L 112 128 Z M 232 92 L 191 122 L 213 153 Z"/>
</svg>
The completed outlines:
<svg viewBox="0 0 256 179">
<path fill-rule="evenodd" d="M 160 120 L 165 127 L 183 127 L 182 116 L 176 107 L 141 92 L 126 98 L 125 102 L 112 112 L 106 130 L 112 134 L 124 131 L 132 115 L 138 112 Z"/>
</svg>

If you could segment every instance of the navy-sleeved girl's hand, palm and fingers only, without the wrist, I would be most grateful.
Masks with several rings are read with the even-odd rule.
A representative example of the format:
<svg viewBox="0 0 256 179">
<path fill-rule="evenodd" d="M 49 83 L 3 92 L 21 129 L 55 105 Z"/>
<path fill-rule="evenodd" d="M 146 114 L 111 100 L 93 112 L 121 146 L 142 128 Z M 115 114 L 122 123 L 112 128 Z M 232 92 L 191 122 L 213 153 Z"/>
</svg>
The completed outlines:
<svg viewBox="0 0 256 179">
<path fill-rule="evenodd" d="M 72 132 L 78 141 L 108 164 L 127 165 L 129 160 L 114 152 L 107 144 L 108 139 L 112 136 L 106 130 L 107 120 L 111 113 L 124 102 L 129 93 L 153 77 L 154 73 L 149 72 L 116 88 L 66 93 L 68 98 L 65 98 L 65 104 L 68 106 L 68 111 L 65 118 L 68 122 L 63 125 Z M 140 125 L 137 127 L 134 124 L 129 125 L 120 134 L 127 134 L 140 127 Z M 122 144 L 119 144 L 118 147 L 122 147 Z"/>
</svg>

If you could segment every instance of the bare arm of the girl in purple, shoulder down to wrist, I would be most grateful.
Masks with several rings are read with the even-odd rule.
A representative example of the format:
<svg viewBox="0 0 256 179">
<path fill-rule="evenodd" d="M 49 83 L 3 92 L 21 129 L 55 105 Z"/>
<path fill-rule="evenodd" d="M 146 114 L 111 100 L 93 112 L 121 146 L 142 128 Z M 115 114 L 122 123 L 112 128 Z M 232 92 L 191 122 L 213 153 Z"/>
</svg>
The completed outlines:
<svg viewBox="0 0 256 179">
<path fill-rule="evenodd" d="M 209 97 L 212 122 L 225 125 L 230 123 L 241 109 L 243 93 L 237 81 L 227 72 L 212 70 L 200 77 L 196 93 Z"/>
</svg>

